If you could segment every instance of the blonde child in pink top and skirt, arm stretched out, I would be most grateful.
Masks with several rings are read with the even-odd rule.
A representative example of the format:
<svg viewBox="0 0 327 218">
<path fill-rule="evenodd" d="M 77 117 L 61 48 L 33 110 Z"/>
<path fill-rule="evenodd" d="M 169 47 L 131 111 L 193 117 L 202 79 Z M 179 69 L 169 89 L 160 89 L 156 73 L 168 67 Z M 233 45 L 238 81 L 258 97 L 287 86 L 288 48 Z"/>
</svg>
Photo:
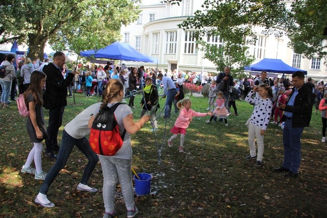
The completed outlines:
<svg viewBox="0 0 327 218">
<path fill-rule="evenodd" d="M 209 111 L 207 113 L 200 113 L 196 112 L 191 109 L 191 100 L 188 98 L 184 98 L 177 103 L 177 107 L 180 109 L 179 116 L 177 117 L 174 127 L 170 130 L 173 133 L 172 137 L 168 140 L 168 146 L 173 146 L 173 139 L 177 137 L 177 134 L 180 133 L 180 146 L 179 152 L 184 152 L 184 139 L 186 134 L 186 129 L 189 127 L 190 122 L 192 121 L 192 117 L 194 116 L 205 116 L 205 115 L 212 115 Z"/>
</svg>

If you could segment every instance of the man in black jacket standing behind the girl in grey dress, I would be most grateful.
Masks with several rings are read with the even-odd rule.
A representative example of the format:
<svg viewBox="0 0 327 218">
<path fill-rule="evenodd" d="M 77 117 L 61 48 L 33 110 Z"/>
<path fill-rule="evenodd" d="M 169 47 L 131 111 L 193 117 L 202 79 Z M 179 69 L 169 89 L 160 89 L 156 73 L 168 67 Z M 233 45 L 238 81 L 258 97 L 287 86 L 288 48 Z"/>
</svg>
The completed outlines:
<svg viewBox="0 0 327 218">
<path fill-rule="evenodd" d="M 57 137 L 67 105 L 67 87 L 76 73 L 76 71 L 70 72 L 64 79 L 62 70 L 65 61 L 65 54 L 57 51 L 53 55 L 53 62 L 43 68 L 46 75 L 46 88 L 43 94 L 44 108 L 49 109 L 49 125 L 46 130 L 49 139 L 45 140 L 45 155 L 52 159 L 57 159 L 53 151 L 59 151 Z"/>
</svg>

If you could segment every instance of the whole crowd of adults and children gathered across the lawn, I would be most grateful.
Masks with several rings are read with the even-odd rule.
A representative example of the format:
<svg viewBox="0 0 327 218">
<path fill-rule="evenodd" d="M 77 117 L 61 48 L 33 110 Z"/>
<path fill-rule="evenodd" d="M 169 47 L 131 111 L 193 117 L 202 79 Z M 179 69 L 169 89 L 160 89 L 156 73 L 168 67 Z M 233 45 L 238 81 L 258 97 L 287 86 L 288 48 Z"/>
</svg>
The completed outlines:
<svg viewBox="0 0 327 218">
<path fill-rule="evenodd" d="M 323 138 L 326 141 L 327 127 L 327 88 L 323 81 L 317 85 L 311 78 L 297 71 L 292 75 L 292 80 L 282 78 L 267 79 L 267 73 L 255 78 L 249 77 L 235 82 L 231 75 L 231 69 L 225 67 L 218 75 L 206 72 L 185 72 L 158 70 L 141 66 L 121 67 L 112 65 L 78 65 L 74 70 L 65 66 L 66 57 L 62 52 L 56 52 L 50 63 L 45 59 L 44 63 L 33 63 L 29 58 L 19 62 L 15 68 L 15 57 L 7 55 L 1 64 L 5 66 L 6 75 L 0 78 L 2 87 L 1 105 L 8 107 L 9 90 L 13 79 L 17 79 L 19 93 L 23 93 L 26 105 L 30 111 L 27 118 L 27 132 L 34 147 L 30 151 L 22 173 L 34 174 L 35 179 L 42 179 L 39 194 L 35 197 L 35 203 L 43 207 L 54 207 L 54 203 L 47 199 L 48 189 L 60 172 L 65 167 L 67 159 L 76 145 L 88 159 L 83 177 L 77 186 L 77 190 L 97 192 L 97 189 L 88 186 L 88 180 L 92 171 L 100 160 L 104 176 L 103 199 L 105 204 L 104 218 L 114 217 L 114 193 L 117 180 L 119 180 L 127 208 L 127 217 L 133 218 L 138 209 L 133 199 L 131 182 L 131 138 L 130 134 L 139 131 L 143 125 L 150 121 L 152 131 L 157 131 L 156 110 L 158 104 L 158 86 L 163 87 L 163 97 L 166 98 L 164 118 L 171 117 L 172 105 L 179 115 L 171 129 L 173 135 L 168 139 L 168 146 L 173 146 L 173 140 L 180 134 L 179 152 L 184 152 L 184 140 L 186 129 L 194 116 L 211 116 L 206 123 L 212 121 L 224 122 L 228 126 L 230 107 L 234 109 L 234 115 L 238 116 L 236 101 L 244 98 L 253 105 L 253 113 L 247 122 L 248 145 L 250 154 L 246 160 L 256 159 L 256 166 L 263 164 L 264 134 L 268 124 L 282 125 L 284 159 L 281 167 L 274 168 L 275 172 L 286 172 L 285 177 L 295 177 L 299 173 L 301 162 L 301 135 L 303 129 L 309 126 L 312 105 L 316 101 L 317 110 L 321 110 L 323 122 Z M 90 67 L 91 66 L 91 67 Z M 17 70 L 17 72 L 16 72 Z M 188 98 L 181 99 L 183 84 L 210 84 L 207 112 L 195 112 L 191 109 L 192 102 Z M 143 84 L 143 86 L 142 86 Z M 44 88 L 45 87 L 45 88 Z M 74 87 L 74 89 L 72 89 Z M 15 87 L 16 88 L 16 87 Z M 43 90 L 45 89 L 45 90 Z M 142 107 L 140 120 L 134 122 L 132 109 L 134 95 L 130 96 L 128 104 L 118 105 L 114 111 L 117 119 L 119 132 L 126 132 L 122 136 L 123 146 L 113 156 L 96 155 L 89 146 L 86 135 L 92 126 L 97 113 L 104 107 L 112 107 L 118 102 L 124 101 L 124 97 L 130 95 L 133 90 L 142 92 Z M 240 91 L 241 90 L 241 91 Z M 87 98 L 95 95 L 101 96 L 102 103 L 94 104 L 71 120 L 64 128 L 62 144 L 58 145 L 58 131 L 62 125 L 66 98 L 72 96 L 72 91 L 83 92 Z M 48 125 L 45 128 L 43 107 L 48 109 Z M 146 115 L 148 111 L 149 114 Z M 93 114 L 90 117 L 90 114 Z M 274 119 L 270 122 L 271 119 Z M 257 138 L 256 151 L 255 138 Z M 42 141 L 45 140 L 45 155 L 55 159 L 56 163 L 48 173 L 42 170 Z M 59 152 L 58 156 L 54 152 Z M 34 161 L 35 169 L 31 167 Z"/>
</svg>

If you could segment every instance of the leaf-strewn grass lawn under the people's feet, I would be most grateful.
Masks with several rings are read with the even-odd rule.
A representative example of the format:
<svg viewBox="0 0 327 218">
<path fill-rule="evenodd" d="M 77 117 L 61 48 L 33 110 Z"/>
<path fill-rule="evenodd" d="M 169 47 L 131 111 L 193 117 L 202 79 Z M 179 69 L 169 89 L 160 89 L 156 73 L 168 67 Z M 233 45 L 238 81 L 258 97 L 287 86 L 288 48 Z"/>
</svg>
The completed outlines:
<svg viewBox="0 0 327 218">
<path fill-rule="evenodd" d="M 75 94 L 76 104 L 68 98 L 63 126 L 87 106 L 100 101 Z M 140 114 L 141 95 L 135 98 L 134 118 Z M 191 97 L 192 109 L 205 112 L 208 99 Z M 164 105 L 162 100 L 161 109 Z M 272 168 L 283 162 L 282 129 L 270 124 L 264 142 L 264 164 L 255 166 L 255 160 L 245 160 L 249 154 L 247 127 L 244 125 L 253 106 L 237 101 L 239 116 L 231 115 L 229 126 L 223 123 L 206 124 L 207 117 L 194 118 L 187 129 L 184 153 L 178 152 L 179 137 L 173 147 L 167 146 L 178 114 L 167 120 L 158 118 L 159 131 L 150 131 L 147 123 L 131 135 L 133 167 L 136 172 L 153 175 L 152 195 L 135 196 L 139 218 L 326 218 L 327 217 L 327 146 L 321 143 L 321 116 L 312 114 L 311 126 L 302 135 L 302 162 L 298 178 L 285 179 Z M 161 110 L 159 109 L 159 110 Z M 232 114 L 234 113 L 232 109 Z M 47 122 L 48 111 L 44 111 Z M 163 141 L 163 138 L 164 141 Z M 161 148 L 161 164 L 158 149 Z M 45 145 L 44 145 L 45 147 Z M 48 199 L 55 203 L 52 209 L 36 206 L 42 180 L 31 174 L 22 174 L 21 168 L 32 143 L 26 131 L 26 118 L 19 115 L 16 103 L 0 109 L 0 218 L 100 218 L 103 216 L 100 162 L 90 178 L 90 186 L 99 189 L 96 194 L 76 190 L 87 160 L 76 148 L 50 186 Z M 54 161 L 43 155 L 43 170 L 47 172 Z M 32 166 L 34 163 L 32 163 Z M 117 186 L 115 209 L 117 218 L 126 217 L 126 208 Z"/>
</svg>

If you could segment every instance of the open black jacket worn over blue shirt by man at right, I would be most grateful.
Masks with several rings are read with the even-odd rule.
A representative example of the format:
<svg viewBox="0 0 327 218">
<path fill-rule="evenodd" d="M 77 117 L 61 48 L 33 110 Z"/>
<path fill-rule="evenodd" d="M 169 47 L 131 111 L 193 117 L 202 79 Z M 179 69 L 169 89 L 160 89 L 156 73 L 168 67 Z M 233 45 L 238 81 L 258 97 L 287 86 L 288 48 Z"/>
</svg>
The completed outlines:
<svg viewBox="0 0 327 218">
<path fill-rule="evenodd" d="M 308 127 L 311 120 L 313 94 L 306 86 L 302 86 L 298 89 L 299 93 L 295 97 L 294 106 L 289 106 L 286 103 L 284 111 L 292 112 L 292 127 Z M 288 97 L 288 101 L 294 93 L 294 87 L 292 93 Z M 287 101 L 287 102 L 288 102 Z M 285 121 L 286 116 L 283 115 L 282 121 Z"/>
</svg>

